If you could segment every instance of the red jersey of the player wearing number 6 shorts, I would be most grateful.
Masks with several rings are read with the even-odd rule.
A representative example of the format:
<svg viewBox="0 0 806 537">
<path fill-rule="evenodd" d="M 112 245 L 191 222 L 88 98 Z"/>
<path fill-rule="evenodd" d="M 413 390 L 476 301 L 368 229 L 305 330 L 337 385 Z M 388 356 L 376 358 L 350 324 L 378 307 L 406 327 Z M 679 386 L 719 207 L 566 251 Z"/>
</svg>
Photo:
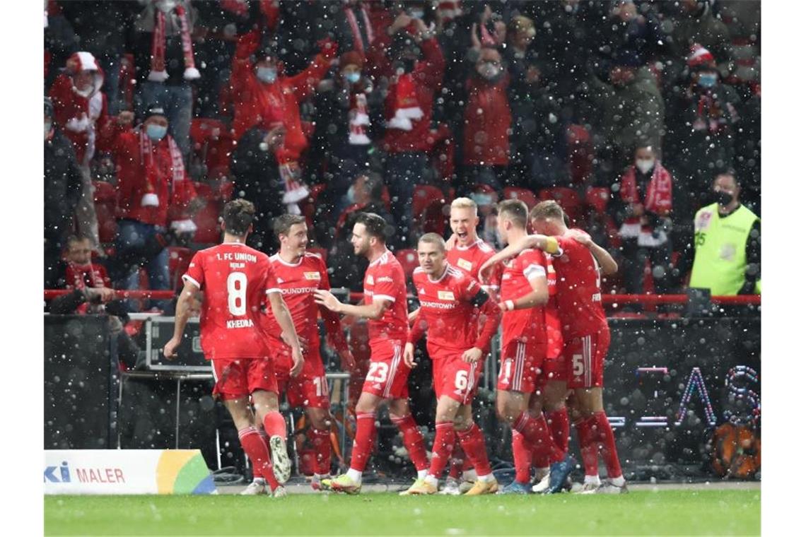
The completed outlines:
<svg viewBox="0 0 806 537">
<path fill-rule="evenodd" d="M 473 347 L 479 337 L 479 309 L 472 300 L 479 294 L 480 284 L 450 264 L 437 280 L 419 267 L 412 280 L 420 299 L 417 322 L 428 329 L 429 356 L 434 360 L 455 356 Z"/>
</svg>

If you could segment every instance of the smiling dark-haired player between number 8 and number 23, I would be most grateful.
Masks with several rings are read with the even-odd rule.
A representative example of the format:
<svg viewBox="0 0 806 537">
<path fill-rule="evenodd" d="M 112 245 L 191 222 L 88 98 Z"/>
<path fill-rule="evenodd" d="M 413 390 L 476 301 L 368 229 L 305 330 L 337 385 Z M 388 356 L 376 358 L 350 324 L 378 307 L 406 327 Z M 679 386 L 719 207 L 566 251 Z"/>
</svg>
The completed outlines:
<svg viewBox="0 0 806 537">
<path fill-rule="evenodd" d="M 334 312 L 314 302 L 314 291 L 330 290 L 327 266 L 318 255 L 305 251 L 308 244 L 308 226 L 305 217 L 284 214 L 274 219 L 274 233 L 280 242 L 280 251 L 272 255 L 272 271 L 277 287 L 291 312 L 294 327 L 302 346 L 305 365 L 297 378 L 290 375 L 293 367 L 291 348 L 279 337 L 280 327 L 273 316 L 266 316 L 270 346 L 276 349 L 274 373 L 280 394 L 285 393 L 290 407 L 304 407 L 310 420 L 308 436 L 316 451 L 314 478 L 311 486 L 320 489 L 322 479 L 330 477 L 330 394 L 327 390 L 325 367 L 319 353 L 317 316 L 325 320 L 330 343 L 339 353 L 344 370 L 355 366 L 352 353 L 342 331 L 341 320 Z"/>
</svg>

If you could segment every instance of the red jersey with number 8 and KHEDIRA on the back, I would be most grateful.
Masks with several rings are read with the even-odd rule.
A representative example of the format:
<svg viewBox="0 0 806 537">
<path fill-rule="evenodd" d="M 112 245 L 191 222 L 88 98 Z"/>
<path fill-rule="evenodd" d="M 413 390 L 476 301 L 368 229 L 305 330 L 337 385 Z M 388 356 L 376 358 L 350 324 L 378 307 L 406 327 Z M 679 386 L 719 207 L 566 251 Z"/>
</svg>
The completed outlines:
<svg viewBox="0 0 806 537">
<path fill-rule="evenodd" d="M 182 279 L 204 291 L 202 351 L 208 360 L 268 357 L 263 307 L 280 292 L 268 255 L 224 242 L 193 255 Z"/>
</svg>

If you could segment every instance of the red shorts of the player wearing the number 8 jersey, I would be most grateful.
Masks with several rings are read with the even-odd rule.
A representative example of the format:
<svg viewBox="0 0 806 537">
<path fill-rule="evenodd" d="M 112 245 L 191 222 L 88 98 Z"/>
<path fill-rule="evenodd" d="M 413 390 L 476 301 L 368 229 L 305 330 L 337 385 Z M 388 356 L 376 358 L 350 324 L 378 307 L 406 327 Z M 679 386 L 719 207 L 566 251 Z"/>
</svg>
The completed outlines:
<svg viewBox="0 0 806 537">
<path fill-rule="evenodd" d="M 212 362 L 216 397 L 238 399 L 257 390 L 277 393 L 272 358 L 222 358 Z"/>
</svg>

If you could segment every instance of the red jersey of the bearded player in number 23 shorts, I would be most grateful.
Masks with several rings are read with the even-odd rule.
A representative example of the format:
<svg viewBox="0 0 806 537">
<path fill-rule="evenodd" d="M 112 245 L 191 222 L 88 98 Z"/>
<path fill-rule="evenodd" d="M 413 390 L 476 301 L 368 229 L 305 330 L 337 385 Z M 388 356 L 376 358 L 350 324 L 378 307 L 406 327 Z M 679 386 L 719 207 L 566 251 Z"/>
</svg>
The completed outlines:
<svg viewBox="0 0 806 537">
<path fill-rule="evenodd" d="M 405 295 L 403 267 L 392 252 L 386 250 L 369 264 L 364 275 L 364 304 L 372 304 L 375 298 L 392 302 L 379 320 L 367 320 L 370 344 L 386 339 L 405 341 L 409 337 Z"/>
</svg>

